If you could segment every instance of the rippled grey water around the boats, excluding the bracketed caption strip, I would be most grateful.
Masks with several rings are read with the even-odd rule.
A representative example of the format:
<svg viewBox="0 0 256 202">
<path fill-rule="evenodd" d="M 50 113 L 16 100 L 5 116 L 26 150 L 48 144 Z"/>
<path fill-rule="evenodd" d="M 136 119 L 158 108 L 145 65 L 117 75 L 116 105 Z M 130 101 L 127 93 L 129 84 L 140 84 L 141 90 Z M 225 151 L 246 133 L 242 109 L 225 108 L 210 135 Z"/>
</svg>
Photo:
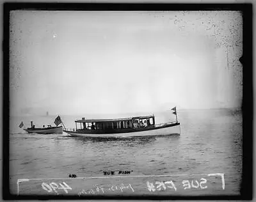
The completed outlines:
<svg viewBox="0 0 256 202">
<path fill-rule="evenodd" d="M 242 173 L 240 111 L 179 111 L 180 136 L 129 139 L 85 139 L 67 134 L 27 134 L 19 123 L 51 124 L 55 116 L 10 118 L 10 180 L 17 193 L 20 178 L 103 176 L 106 170 L 132 170 L 131 175 L 224 173 L 222 194 L 239 194 Z M 61 116 L 74 127 L 77 116 Z M 161 120 L 162 118 L 162 120 Z M 166 114 L 159 116 L 164 121 Z M 156 117 L 157 119 L 157 117 Z M 39 189 L 37 191 L 40 191 Z M 42 189 L 41 189 L 42 191 Z"/>
</svg>

